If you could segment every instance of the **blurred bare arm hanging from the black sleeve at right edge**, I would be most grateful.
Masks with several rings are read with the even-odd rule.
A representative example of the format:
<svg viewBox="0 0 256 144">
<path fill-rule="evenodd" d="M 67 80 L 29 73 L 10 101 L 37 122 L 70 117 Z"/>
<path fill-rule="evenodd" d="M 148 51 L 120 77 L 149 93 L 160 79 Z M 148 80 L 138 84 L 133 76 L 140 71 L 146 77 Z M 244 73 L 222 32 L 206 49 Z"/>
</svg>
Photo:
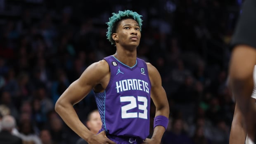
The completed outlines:
<svg viewBox="0 0 256 144">
<path fill-rule="evenodd" d="M 253 69 L 256 64 L 256 49 L 248 45 L 237 45 L 230 61 L 230 86 L 246 123 L 246 130 L 254 137 L 255 109 L 250 100 L 253 91 Z"/>
</svg>

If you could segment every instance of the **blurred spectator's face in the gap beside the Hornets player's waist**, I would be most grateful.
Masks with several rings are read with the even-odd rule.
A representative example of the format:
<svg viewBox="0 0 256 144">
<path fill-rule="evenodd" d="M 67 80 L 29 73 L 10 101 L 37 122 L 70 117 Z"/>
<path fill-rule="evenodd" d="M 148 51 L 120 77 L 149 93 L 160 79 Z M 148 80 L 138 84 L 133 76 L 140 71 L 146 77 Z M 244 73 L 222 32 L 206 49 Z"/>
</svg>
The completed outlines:
<svg viewBox="0 0 256 144">
<path fill-rule="evenodd" d="M 102 126 L 99 112 L 95 111 L 91 114 L 90 120 L 87 122 L 87 126 L 90 129 L 90 131 L 94 132 L 95 134 L 99 132 Z"/>
</svg>

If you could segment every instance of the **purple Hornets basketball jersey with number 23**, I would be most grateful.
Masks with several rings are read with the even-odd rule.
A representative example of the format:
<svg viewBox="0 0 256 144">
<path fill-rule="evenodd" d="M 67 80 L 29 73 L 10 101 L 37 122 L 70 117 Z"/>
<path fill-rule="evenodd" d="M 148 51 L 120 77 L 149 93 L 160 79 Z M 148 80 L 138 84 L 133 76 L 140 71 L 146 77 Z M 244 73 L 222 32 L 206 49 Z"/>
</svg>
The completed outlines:
<svg viewBox="0 0 256 144">
<path fill-rule="evenodd" d="M 133 67 L 114 56 L 104 59 L 109 64 L 111 77 L 105 92 L 95 94 L 102 130 L 111 135 L 146 139 L 151 90 L 147 64 L 139 58 Z"/>
</svg>

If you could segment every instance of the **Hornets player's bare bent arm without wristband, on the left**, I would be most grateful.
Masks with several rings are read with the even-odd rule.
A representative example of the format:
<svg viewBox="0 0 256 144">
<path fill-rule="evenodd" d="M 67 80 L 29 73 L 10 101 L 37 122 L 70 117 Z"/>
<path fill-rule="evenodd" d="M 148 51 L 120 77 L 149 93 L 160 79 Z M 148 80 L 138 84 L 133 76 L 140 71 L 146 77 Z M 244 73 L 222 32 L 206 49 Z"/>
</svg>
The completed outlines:
<svg viewBox="0 0 256 144">
<path fill-rule="evenodd" d="M 105 135 L 99 135 L 97 137 L 85 125 L 79 120 L 76 111 L 73 109 L 73 105 L 80 102 L 91 90 L 98 84 L 102 84 L 109 73 L 109 66 L 106 61 L 102 60 L 90 65 L 82 73 L 80 78 L 74 81 L 59 97 L 55 104 L 55 111 L 61 116 L 64 122 L 87 142 L 97 144 L 114 144 L 105 137 Z M 96 140 L 95 140 L 96 139 Z"/>
</svg>

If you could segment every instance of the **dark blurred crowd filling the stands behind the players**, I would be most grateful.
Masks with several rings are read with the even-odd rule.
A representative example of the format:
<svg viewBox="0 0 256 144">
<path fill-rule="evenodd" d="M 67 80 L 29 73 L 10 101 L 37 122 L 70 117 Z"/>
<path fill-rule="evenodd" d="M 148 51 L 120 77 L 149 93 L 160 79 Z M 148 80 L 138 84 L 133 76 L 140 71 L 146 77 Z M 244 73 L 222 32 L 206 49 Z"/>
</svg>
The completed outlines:
<svg viewBox="0 0 256 144">
<path fill-rule="evenodd" d="M 88 65 L 115 53 L 106 22 L 130 9 L 143 16 L 137 56 L 159 70 L 170 104 L 162 144 L 228 144 L 228 44 L 241 1 L 0 0 L 0 114 L 15 118 L 26 144 L 74 144 L 55 102 Z M 85 122 L 97 109 L 92 92 L 74 107 Z"/>
</svg>

